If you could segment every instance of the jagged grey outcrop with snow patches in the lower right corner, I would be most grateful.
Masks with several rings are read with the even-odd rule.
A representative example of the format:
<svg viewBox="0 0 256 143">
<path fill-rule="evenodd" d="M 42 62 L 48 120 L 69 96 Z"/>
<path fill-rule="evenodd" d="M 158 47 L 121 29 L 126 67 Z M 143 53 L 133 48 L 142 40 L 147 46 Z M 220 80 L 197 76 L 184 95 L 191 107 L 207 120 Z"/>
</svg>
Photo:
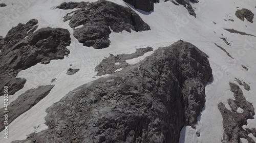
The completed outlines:
<svg viewBox="0 0 256 143">
<path fill-rule="evenodd" d="M 242 90 L 235 83 L 229 82 L 230 91 L 234 94 L 234 100 L 228 99 L 231 110 L 228 110 L 223 103 L 218 104 L 218 108 L 223 118 L 223 138 L 222 142 L 241 142 L 240 138 L 245 138 L 249 143 L 255 143 L 248 134 L 253 133 L 250 129 L 243 129 L 243 125 L 247 125 L 248 119 L 254 119 L 254 107 L 246 100 Z M 237 112 L 238 108 L 242 108 L 243 112 Z"/>
</svg>

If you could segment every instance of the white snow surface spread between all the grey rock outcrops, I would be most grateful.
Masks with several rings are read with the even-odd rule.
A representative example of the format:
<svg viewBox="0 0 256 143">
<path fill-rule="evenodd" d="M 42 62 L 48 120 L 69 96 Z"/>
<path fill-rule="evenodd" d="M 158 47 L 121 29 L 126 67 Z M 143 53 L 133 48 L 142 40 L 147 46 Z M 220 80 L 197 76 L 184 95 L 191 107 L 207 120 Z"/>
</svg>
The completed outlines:
<svg viewBox="0 0 256 143">
<path fill-rule="evenodd" d="M 126 6 L 121 0 L 111 0 L 122 6 Z M 0 133 L 0 142 L 11 142 L 13 140 L 26 139 L 26 136 L 34 131 L 39 132 L 47 129 L 45 123 L 46 108 L 59 101 L 68 92 L 79 85 L 99 78 L 94 68 L 100 63 L 104 56 L 112 54 L 133 53 L 136 48 L 150 46 L 157 49 L 173 44 L 177 40 L 188 41 L 209 55 L 210 66 L 213 70 L 214 81 L 206 86 L 205 107 L 198 117 L 196 129 L 184 127 L 181 130 L 180 143 L 183 142 L 221 142 L 223 135 L 222 116 L 217 107 L 223 102 L 227 108 L 227 99 L 233 98 L 229 91 L 229 81 L 235 82 L 234 78 L 242 79 L 249 83 L 251 91 L 244 89 L 244 96 L 256 108 L 256 38 L 229 33 L 223 28 L 234 28 L 235 30 L 256 35 L 256 23 L 247 20 L 241 21 L 234 14 L 241 8 L 247 8 L 256 14 L 256 1 L 254 0 L 200 0 L 198 4 L 191 4 L 197 13 L 197 18 L 188 14 L 183 6 L 176 6 L 172 2 L 161 2 L 154 5 L 154 11 L 147 13 L 134 9 L 140 17 L 151 26 L 151 31 L 145 32 L 121 32 L 111 33 L 111 45 L 105 49 L 94 49 L 84 47 L 72 35 L 73 30 L 68 25 L 69 21 L 63 22 L 63 16 L 73 10 L 54 9 L 56 6 L 68 0 L 2 0 L 7 7 L 0 8 L 0 35 L 5 37 L 12 26 L 19 22 L 26 23 L 30 19 L 38 20 L 38 29 L 41 27 L 62 27 L 67 28 L 71 33 L 71 44 L 69 56 L 63 60 L 52 60 L 50 64 L 37 64 L 29 69 L 19 72 L 18 76 L 26 78 L 25 87 L 9 96 L 9 103 L 15 100 L 25 91 L 36 88 L 39 85 L 51 84 L 51 79 L 56 78 L 55 87 L 49 95 L 23 113 L 9 125 L 9 138 L 3 137 Z M 81 2 L 81 1 L 73 1 Z M 95 1 L 92 1 L 95 2 Z M 127 7 L 127 6 L 126 6 Z M 225 21 L 224 19 L 227 19 Z M 234 22 L 228 21 L 233 19 Z M 212 21 L 216 22 L 214 24 Z M 254 18 L 254 21 L 255 18 Z M 215 32 L 215 33 L 214 33 Z M 221 35 L 223 34 L 223 36 Z M 231 46 L 224 43 L 220 37 L 226 37 Z M 225 48 L 234 59 L 229 58 L 226 53 L 214 43 Z M 143 56 L 127 60 L 129 64 L 135 64 L 143 60 L 145 56 L 153 52 L 145 53 Z M 72 64 L 72 66 L 69 66 Z M 248 71 L 241 65 L 249 66 Z M 74 75 L 67 75 L 68 68 L 79 68 Z M 96 76 L 96 78 L 93 78 Z M 0 97 L 3 101 L 3 97 Z M 3 102 L 0 102 L 3 107 Z M 255 118 L 255 116 L 254 116 Z M 248 120 L 246 128 L 256 127 L 256 121 Z M 39 126 L 39 127 L 38 127 Z M 34 128 L 38 127 L 38 128 Z M 200 132 L 197 137 L 196 132 Z M 250 135 L 251 137 L 253 135 Z M 254 137 L 255 140 L 255 137 Z M 243 142 L 246 142 L 242 140 Z M 256 140 L 255 140 L 256 141 Z"/>
</svg>

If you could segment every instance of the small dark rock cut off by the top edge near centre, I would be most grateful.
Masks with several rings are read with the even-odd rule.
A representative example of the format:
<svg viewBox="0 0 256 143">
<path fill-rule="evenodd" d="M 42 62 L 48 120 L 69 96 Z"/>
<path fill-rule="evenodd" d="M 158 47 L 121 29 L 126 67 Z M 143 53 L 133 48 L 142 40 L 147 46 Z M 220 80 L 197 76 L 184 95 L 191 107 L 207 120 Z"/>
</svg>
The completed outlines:
<svg viewBox="0 0 256 143">
<path fill-rule="evenodd" d="M 131 4 L 136 9 L 150 12 L 154 10 L 154 0 L 123 0 L 124 2 Z"/>
</svg>

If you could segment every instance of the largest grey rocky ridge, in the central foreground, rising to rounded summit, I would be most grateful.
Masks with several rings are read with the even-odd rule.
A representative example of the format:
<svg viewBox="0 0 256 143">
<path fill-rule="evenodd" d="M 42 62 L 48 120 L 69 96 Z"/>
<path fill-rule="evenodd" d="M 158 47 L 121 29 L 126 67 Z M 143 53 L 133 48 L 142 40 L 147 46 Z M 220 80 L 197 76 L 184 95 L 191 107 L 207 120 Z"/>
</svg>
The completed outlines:
<svg viewBox="0 0 256 143">
<path fill-rule="evenodd" d="M 46 111 L 48 130 L 15 142 L 178 142 L 205 103 L 207 55 L 188 42 L 82 85 Z"/>
</svg>

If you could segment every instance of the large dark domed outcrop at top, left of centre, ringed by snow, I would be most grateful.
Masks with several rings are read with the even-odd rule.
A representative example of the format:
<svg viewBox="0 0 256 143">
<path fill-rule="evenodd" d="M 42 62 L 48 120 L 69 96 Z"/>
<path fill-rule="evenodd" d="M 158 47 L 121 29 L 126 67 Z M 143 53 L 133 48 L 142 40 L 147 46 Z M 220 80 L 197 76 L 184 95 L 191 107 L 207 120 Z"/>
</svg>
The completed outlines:
<svg viewBox="0 0 256 143">
<path fill-rule="evenodd" d="M 113 32 L 131 30 L 147 31 L 148 26 L 131 8 L 123 7 L 109 1 L 97 1 L 65 16 L 65 21 L 74 28 L 74 37 L 84 46 L 95 49 L 106 48 L 110 45 L 109 35 Z M 75 28 L 83 25 L 80 28 Z"/>
</svg>

